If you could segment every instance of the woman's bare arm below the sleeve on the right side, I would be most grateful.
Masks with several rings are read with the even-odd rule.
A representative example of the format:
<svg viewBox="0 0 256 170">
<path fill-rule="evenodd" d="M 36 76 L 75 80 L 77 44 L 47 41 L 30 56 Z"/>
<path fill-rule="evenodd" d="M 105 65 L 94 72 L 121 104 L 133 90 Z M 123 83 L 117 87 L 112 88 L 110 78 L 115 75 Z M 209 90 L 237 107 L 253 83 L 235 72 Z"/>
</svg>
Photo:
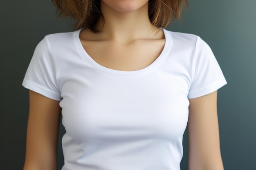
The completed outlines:
<svg viewBox="0 0 256 170">
<path fill-rule="evenodd" d="M 189 170 L 224 170 L 220 154 L 217 91 L 189 99 Z"/>
</svg>

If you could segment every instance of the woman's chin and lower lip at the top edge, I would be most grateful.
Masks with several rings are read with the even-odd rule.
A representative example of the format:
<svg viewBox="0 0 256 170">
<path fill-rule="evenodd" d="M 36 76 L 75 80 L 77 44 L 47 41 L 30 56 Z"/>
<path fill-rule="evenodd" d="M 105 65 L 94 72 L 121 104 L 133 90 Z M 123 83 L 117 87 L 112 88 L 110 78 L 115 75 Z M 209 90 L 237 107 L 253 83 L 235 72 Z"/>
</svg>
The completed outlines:
<svg viewBox="0 0 256 170">
<path fill-rule="evenodd" d="M 143 7 L 148 8 L 148 0 L 101 0 L 101 8 L 119 13 L 137 11 Z"/>
</svg>

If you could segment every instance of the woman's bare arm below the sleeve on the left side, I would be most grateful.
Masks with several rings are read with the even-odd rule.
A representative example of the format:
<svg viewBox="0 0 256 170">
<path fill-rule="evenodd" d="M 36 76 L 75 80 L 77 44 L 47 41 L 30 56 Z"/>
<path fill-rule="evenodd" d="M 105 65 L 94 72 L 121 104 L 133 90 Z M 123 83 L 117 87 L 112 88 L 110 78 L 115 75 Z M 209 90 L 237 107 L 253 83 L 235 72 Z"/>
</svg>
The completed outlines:
<svg viewBox="0 0 256 170">
<path fill-rule="evenodd" d="M 29 91 L 26 158 L 23 170 L 57 170 L 59 101 Z"/>
</svg>

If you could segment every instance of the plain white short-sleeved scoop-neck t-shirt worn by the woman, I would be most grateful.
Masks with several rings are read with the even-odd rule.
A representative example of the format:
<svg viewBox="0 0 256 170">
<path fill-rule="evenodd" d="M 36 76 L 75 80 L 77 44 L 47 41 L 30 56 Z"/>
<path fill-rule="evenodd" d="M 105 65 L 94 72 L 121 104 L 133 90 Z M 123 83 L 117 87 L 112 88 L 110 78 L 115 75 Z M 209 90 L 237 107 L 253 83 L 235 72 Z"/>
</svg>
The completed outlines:
<svg viewBox="0 0 256 170">
<path fill-rule="evenodd" d="M 92 60 L 79 33 L 47 35 L 22 83 L 60 101 L 62 170 L 180 170 L 189 98 L 227 83 L 209 46 L 164 29 L 152 64 L 117 71 Z"/>
</svg>

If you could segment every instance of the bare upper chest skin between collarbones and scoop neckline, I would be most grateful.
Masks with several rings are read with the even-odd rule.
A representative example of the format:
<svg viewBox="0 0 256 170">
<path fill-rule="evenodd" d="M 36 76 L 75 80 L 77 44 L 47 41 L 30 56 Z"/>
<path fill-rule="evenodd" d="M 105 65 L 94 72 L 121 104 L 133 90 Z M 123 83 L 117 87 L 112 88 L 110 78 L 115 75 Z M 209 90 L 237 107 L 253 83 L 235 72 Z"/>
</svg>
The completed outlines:
<svg viewBox="0 0 256 170">
<path fill-rule="evenodd" d="M 152 64 L 164 48 L 164 33 L 160 30 L 155 38 L 138 39 L 129 44 L 113 40 L 92 40 L 88 31 L 81 31 L 80 40 L 90 57 L 106 68 L 119 71 L 136 71 Z M 87 38 L 89 37 L 89 38 Z"/>
</svg>

